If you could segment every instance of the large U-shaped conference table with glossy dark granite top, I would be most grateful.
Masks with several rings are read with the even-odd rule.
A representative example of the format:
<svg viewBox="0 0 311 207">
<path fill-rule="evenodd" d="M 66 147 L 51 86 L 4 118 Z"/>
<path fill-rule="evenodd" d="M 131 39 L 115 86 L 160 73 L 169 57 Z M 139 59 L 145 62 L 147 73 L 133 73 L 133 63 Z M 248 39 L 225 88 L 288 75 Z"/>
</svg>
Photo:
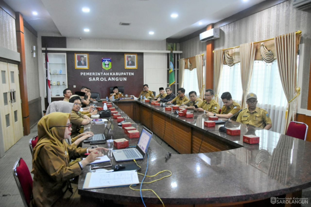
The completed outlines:
<svg viewBox="0 0 311 207">
<path fill-rule="evenodd" d="M 301 197 L 301 190 L 311 186 L 311 143 L 308 141 L 234 121 L 226 123 L 226 127 L 240 129 L 241 135 L 230 136 L 218 131 L 223 125 L 205 127 L 204 121 L 208 120 L 205 113 L 193 112 L 193 118 L 186 118 L 174 114 L 175 110 L 165 111 L 165 107 L 142 101 L 119 101 L 114 106 L 127 122 L 139 122 L 139 131 L 145 126 L 156 136 L 150 142 L 149 157 L 137 160 L 137 163 L 143 174 L 147 160 L 147 175 L 163 170 L 172 172 L 170 177 L 142 186 L 143 189 L 153 189 L 166 206 L 237 205 L 264 199 L 270 201 L 273 196 Z M 109 135 L 113 135 L 113 139 L 126 138 L 130 146 L 135 146 L 138 139 L 129 139 L 118 126 L 117 119 L 112 120 Z M 104 125 L 91 123 L 85 126 L 85 131 L 88 130 L 103 133 Z M 259 136 L 259 144 L 243 142 L 246 134 Z M 162 141 L 179 154 L 172 154 L 166 160 L 168 152 L 161 146 Z M 110 153 L 108 156 L 112 164 L 117 164 Z M 133 163 L 121 164 L 129 162 Z M 80 195 L 124 205 L 142 204 L 140 192 L 129 187 L 82 189 L 88 172 L 89 166 L 79 176 Z M 145 182 L 168 174 L 146 177 Z M 142 178 L 139 175 L 140 182 Z M 135 188 L 139 189 L 139 186 Z M 152 192 L 143 191 L 142 195 L 147 206 L 161 205 Z"/>
</svg>

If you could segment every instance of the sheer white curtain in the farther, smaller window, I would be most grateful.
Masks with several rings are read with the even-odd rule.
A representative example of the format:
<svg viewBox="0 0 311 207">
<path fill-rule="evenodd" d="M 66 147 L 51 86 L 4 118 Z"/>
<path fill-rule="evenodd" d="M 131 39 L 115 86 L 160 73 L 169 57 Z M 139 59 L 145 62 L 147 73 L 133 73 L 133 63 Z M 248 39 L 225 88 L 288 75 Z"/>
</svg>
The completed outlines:
<svg viewBox="0 0 311 207">
<path fill-rule="evenodd" d="M 183 88 L 186 90 L 185 95 L 189 98 L 189 92 L 197 92 L 197 96 L 200 95 L 200 89 L 197 81 L 197 68 L 193 68 L 192 71 L 185 69 L 183 74 Z"/>
</svg>

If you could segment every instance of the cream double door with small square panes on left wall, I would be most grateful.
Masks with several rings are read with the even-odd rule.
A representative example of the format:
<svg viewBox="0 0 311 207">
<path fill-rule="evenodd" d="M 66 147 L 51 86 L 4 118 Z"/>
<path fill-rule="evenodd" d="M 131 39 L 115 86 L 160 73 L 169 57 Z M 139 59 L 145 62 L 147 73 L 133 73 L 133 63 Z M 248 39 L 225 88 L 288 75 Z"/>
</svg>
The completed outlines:
<svg viewBox="0 0 311 207">
<path fill-rule="evenodd" d="M 4 145 L 1 151 L 7 151 L 23 137 L 21 95 L 17 65 L 0 62 L 0 71 L 0 143 Z"/>
</svg>

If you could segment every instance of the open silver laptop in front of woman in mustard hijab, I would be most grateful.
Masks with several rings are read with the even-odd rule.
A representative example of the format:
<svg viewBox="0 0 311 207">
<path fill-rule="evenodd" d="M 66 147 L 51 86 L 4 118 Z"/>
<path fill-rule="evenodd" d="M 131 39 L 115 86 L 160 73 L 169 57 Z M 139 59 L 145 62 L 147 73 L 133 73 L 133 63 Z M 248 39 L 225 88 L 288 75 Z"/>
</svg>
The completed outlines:
<svg viewBox="0 0 311 207">
<path fill-rule="evenodd" d="M 136 148 L 112 150 L 114 159 L 117 162 L 129 161 L 133 159 L 144 159 L 148 150 L 153 133 L 143 127 Z"/>
</svg>

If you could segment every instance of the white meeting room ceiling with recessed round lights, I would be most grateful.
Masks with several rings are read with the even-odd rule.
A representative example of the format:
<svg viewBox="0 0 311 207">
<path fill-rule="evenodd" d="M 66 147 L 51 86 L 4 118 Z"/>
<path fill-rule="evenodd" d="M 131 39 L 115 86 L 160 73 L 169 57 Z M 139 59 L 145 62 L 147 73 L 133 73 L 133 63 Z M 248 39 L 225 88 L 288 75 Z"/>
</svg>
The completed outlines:
<svg viewBox="0 0 311 207">
<path fill-rule="evenodd" d="M 60 33 L 68 38 L 164 40 L 182 38 L 264 0 L 4 1 L 21 12 L 37 32 Z M 82 7 L 90 12 L 82 12 Z M 34 16 L 33 11 L 38 14 Z M 172 18 L 173 13 L 178 17 Z"/>
</svg>

